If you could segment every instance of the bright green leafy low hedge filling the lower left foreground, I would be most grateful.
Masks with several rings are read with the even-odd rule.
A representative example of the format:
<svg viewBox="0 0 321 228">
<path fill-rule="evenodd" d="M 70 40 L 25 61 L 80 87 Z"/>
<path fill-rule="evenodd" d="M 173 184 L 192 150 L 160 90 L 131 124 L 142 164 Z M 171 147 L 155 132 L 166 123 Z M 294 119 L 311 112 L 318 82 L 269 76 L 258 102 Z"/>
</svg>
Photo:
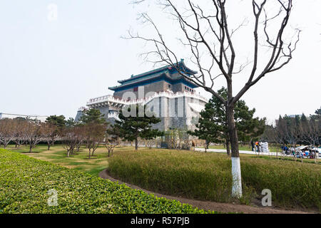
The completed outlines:
<svg viewBox="0 0 321 228">
<path fill-rule="evenodd" d="M 58 192 L 58 206 L 47 204 L 51 189 Z M 207 212 L 0 149 L 0 213 Z"/>
</svg>

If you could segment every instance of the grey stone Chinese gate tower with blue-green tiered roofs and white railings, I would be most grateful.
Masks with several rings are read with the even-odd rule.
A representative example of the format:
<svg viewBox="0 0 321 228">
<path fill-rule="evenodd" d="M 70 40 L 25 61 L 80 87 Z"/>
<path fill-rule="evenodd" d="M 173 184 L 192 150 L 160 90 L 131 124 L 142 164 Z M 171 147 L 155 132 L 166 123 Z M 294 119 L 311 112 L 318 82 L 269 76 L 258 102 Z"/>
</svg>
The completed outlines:
<svg viewBox="0 0 321 228">
<path fill-rule="evenodd" d="M 185 76 L 180 75 L 176 68 L 183 70 Z M 195 73 L 197 72 L 185 66 L 182 59 L 176 63 L 175 68 L 164 66 L 118 81 L 120 85 L 109 87 L 113 90 L 113 95 L 90 99 L 87 107 L 99 109 L 108 121 L 114 123 L 124 105 L 149 105 L 151 111 L 161 118 L 161 123 L 154 125 L 154 128 L 193 130 L 200 111 L 208 102 L 195 92 L 198 86 L 188 80 L 188 77 Z M 76 121 L 81 118 L 83 110 L 86 110 L 86 107 L 78 110 Z"/>
</svg>

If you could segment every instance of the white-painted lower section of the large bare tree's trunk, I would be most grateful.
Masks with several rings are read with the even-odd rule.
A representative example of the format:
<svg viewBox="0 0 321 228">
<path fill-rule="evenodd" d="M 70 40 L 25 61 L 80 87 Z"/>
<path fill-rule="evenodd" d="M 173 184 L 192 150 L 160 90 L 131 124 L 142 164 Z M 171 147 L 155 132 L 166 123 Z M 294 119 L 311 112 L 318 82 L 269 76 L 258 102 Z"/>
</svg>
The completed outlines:
<svg viewBox="0 0 321 228">
<path fill-rule="evenodd" d="M 232 159 L 232 197 L 242 197 L 242 180 L 240 173 L 240 157 L 231 157 Z"/>
</svg>

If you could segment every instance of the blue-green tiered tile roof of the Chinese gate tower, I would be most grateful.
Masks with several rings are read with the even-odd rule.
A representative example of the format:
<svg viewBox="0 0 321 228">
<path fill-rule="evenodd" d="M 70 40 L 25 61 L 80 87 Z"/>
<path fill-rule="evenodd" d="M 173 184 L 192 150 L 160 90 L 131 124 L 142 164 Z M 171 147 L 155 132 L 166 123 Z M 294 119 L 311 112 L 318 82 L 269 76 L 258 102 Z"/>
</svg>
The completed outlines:
<svg viewBox="0 0 321 228">
<path fill-rule="evenodd" d="M 183 59 L 181 59 L 180 62 L 176 63 L 176 66 L 178 66 L 178 68 L 182 71 L 185 71 L 186 76 L 191 76 L 197 73 L 197 71 L 193 71 L 185 66 Z M 192 81 L 181 76 L 178 71 L 172 66 L 163 66 L 153 71 L 141 73 L 136 76 L 131 76 L 131 78 L 128 78 L 126 80 L 118 81 L 118 83 L 121 83 L 120 86 L 109 87 L 109 89 L 114 91 L 125 90 L 136 86 L 143 86 L 154 83 L 156 81 L 167 81 L 168 83 L 184 83 L 191 88 L 198 87 Z"/>
</svg>

